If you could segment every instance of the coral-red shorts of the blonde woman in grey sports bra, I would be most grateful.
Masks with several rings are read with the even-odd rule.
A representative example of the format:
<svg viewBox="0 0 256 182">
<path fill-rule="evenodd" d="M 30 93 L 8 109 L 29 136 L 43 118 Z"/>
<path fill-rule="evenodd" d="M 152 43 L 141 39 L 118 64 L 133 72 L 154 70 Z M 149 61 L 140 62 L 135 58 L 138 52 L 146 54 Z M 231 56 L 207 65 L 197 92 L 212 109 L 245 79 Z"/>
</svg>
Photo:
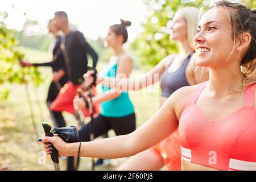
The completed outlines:
<svg viewBox="0 0 256 182">
<path fill-rule="evenodd" d="M 178 130 L 151 149 L 163 159 L 164 165 L 168 170 L 181 170 L 181 151 Z"/>
</svg>

